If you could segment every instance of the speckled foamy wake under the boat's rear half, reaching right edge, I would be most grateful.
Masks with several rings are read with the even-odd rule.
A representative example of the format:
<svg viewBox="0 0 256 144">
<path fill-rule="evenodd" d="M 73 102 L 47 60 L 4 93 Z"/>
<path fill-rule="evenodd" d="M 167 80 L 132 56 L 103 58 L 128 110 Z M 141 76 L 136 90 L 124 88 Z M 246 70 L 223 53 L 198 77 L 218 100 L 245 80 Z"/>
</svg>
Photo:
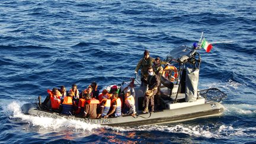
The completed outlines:
<svg viewBox="0 0 256 144">
<path fill-rule="evenodd" d="M 209 124 L 209 125 L 196 125 L 191 126 L 190 124 L 177 124 L 172 126 L 166 125 L 152 125 L 152 126 L 139 126 L 139 127 L 109 127 L 110 129 L 118 132 L 134 132 L 134 131 L 145 131 L 145 132 L 169 132 L 169 133 L 184 133 L 190 136 L 196 137 L 230 137 L 230 136 L 256 136 L 255 127 L 239 127 L 234 128 L 232 125 L 226 124 Z"/>
</svg>

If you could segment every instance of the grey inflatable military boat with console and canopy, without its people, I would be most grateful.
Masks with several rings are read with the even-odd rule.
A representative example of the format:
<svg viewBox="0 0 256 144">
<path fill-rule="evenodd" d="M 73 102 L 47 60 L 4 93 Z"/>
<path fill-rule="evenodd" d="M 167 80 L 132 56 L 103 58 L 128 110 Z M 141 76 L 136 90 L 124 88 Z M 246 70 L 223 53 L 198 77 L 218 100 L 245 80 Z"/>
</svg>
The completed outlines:
<svg viewBox="0 0 256 144">
<path fill-rule="evenodd" d="M 135 76 L 131 81 L 122 82 L 121 91 L 127 85 L 135 89 L 136 116 L 123 115 L 107 119 L 87 119 L 43 110 L 39 103 L 28 103 L 21 107 L 24 114 L 52 119 L 79 120 L 84 123 L 108 126 L 140 126 L 143 124 L 164 124 L 198 119 L 200 117 L 220 116 L 224 107 L 220 101 L 226 94 L 217 88 L 199 90 L 199 71 L 201 57 L 196 49 L 180 46 L 167 55 L 167 62 L 161 76 L 161 108 L 150 113 L 142 113 L 146 84 Z M 175 66 L 176 65 L 176 66 Z M 176 68 L 177 67 L 177 68 Z"/>
</svg>

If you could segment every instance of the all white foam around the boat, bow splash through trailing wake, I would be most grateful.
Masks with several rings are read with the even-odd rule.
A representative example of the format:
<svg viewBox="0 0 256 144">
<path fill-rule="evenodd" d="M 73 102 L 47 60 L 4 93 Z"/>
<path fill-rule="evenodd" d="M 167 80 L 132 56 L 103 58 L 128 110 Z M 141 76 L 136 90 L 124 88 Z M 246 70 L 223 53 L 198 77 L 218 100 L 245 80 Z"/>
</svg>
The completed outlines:
<svg viewBox="0 0 256 144">
<path fill-rule="evenodd" d="M 100 126 L 98 124 L 87 124 L 82 121 L 67 120 L 67 119 L 52 119 L 46 117 L 36 117 L 25 115 L 21 113 L 21 102 L 12 102 L 6 108 L 4 112 L 8 114 L 11 119 L 21 119 L 25 123 L 31 126 L 39 126 L 40 129 L 50 129 L 57 130 L 59 128 L 69 129 L 69 130 L 84 130 L 92 131 L 94 129 L 110 129 L 117 132 L 135 132 L 135 131 L 159 131 L 159 132 L 169 132 L 169 133 L 184 133 L 190 136 L 196 137 L 231 137 L 231 136 L 256 136 L 254 132 L 256 127 L 233 127 L 232 125 L 226 124 L 168 124 L 168 125 L 150 125 L 150 126 L 138 126 L 138 127 L 110 127 L 110 126 Z M 237 107 L 233 105 L 232 107 Z M 253 107 L 252 110 L 256 109 L 255 105 L 241 104 L 240 108 Z M 228 107 L 230 108 L 230 107 Z M 254 111 L 255 113 L 255 111 Z"/>
</svg>

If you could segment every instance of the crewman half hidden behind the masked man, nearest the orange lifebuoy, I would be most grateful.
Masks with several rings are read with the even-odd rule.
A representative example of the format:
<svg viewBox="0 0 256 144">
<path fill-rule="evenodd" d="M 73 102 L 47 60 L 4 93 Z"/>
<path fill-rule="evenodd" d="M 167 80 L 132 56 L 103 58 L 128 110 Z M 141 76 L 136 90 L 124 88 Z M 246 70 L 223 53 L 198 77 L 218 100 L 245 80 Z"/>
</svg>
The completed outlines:
<svg viewBox="0 0 256 144">
<path fill-rule="evenodd" d="M 162 72 L 163 72 L 164 68 L 162 68 L 161 66 L 161 59 L 160 57 L 156 57 L 155 58 L 155 62 L 153 62 L 153 71 L 155 72 L 156 75 L 158 75 L 159 80 L 161 81 L 161 76 L 162 76 Z M 158 91 L 156 92 L 155 95 L 155 102 L 156 102 L 156 108 L 161 108 L 161 84 L 159 84 L 158 86 Z"/>
</svg>

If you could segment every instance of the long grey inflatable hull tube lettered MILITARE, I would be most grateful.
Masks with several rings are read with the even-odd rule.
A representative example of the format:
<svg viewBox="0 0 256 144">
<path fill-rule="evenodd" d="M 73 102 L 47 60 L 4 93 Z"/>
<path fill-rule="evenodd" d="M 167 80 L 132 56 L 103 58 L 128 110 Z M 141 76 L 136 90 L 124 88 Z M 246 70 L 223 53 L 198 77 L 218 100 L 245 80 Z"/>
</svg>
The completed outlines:
<svg viewBox="0 0 256 144">
<path fill-rule="evenodd" d="M 222 104 L 210 102 L 206 104 L 193 105 L 191 107 L 177 108 L 174 110 L 162 110 L 152 113 L 138 114 L 136 117 L 121 116 L 108 119 L 84 119 L 76 116 L 54 113 L 52 111 L 39 110 L 36 104 L 24 104 L 21 108 L 24 114 L 33 116 L 49 117 L 52 119 L 79 120 L 84 123 L 102 124 L 108 126 L 140 126 L 144 124 L 174 123 L 197 119 L 199 117 L 220 116 L 224 110 Z"/>
</svg>

